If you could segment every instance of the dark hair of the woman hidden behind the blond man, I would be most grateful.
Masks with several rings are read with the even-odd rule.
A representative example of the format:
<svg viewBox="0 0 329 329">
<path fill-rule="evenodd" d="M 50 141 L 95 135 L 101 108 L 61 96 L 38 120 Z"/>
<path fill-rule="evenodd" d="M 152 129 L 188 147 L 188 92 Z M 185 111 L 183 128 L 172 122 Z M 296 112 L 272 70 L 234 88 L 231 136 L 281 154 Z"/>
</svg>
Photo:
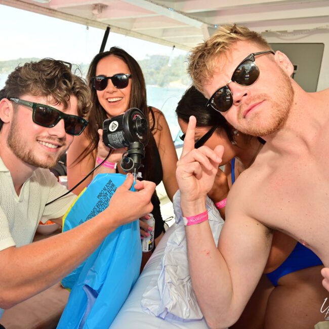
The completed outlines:
<svg viewBox="0 0 329 329">
<path fill-rule="evenodd" d="M 177 117 L 188 123 L 191 115 L 196 118 L 197 127 L 218 127 L 216 132 L 224 130 L 230 142 L 234 142 L 232 126 L 220 113 L 206 107 L 208 99 L 205 98 L 194 86 L 186 90 L 176 108 Z"/>
</svg>

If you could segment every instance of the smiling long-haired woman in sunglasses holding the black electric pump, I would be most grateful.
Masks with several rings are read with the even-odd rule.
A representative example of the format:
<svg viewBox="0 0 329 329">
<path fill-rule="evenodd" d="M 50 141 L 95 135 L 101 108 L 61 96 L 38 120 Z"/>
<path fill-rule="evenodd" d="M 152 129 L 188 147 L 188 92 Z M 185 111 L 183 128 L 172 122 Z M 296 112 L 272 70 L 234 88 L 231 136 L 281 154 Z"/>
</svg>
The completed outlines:
<svg viewBox="0 0 329 329">
<path fill-rule="evenodd" d="M 89 125 L 85 132 L 72 143 L 68 156 L 68 186 L 73 187 L 83 179 L 95 166 L 105 158 L 109 149 L 100 139 L 103 121 L 107 118 L 124 113 L 129 108 L 140 109 L 149 121 L 150 138 L 145 147 L 145 158 L 141 167 L 142 179 L 159 184 L 166 188 L 169 198 L 178 189 L 175 171 L 177 154 L 170 130 L 162 112 L 146 103 L 146 86 L 142 70 L 137 61 L 126 51 L 112 47 L 109 51 L 97 54 L 90 64 L 88 83 L 92 93 L 92 109 L 89 115 Z M 118 163 L 117 171 L 124 173 L 119 162 L 127 148 L 114 150 L 107 159 L 109 163 Z M 95 174 L 115 172 L 101 166 Z M 108 167 L 108 166 L 107 166 Z M 115 166 L 113 166 L 115 167 Z M 92 180 L 92 177 L 79 185 L 74 192 L 78 194 Z M 160 213 L 160 201 L 154 193 L 152 197 L 153 216 L 155 219 L 155 245 L 164 232 L 164 222 Z M 129 200 L 127 200 L 129 207 Z M 147 225 L 141 222 L 141 227 L 147 230 Z M 148 236 L 144 230 L 141 234 Z M 150 253 L 147 253 L 150 254 Z M 148 256 L 149 257 L 149 256 Z M 144 259 L 145 260 L 145 259 Z"/>
</svg>

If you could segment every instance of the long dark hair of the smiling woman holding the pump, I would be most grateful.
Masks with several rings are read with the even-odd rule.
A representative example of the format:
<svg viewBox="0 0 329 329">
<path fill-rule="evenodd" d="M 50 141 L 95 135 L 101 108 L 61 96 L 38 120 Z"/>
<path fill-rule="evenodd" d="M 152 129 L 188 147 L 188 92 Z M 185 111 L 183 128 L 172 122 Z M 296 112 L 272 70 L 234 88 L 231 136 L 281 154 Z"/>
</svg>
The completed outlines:
<svg viewBox="0 0 329 329">
<path fill-rule="evenodd" d="M 131 88 L 128 108 L 137 107 L 144 113 L 145 117 L 149 120 L 150 131 L 152 134 L 150 134 L 149 142 L 145 147 L 145 159 L 143 160 L 143 162 L 146 164 L 146 166 L 143 169 L 141 169 L 141 172 L 143 174 L 144 179 L 151 180 L 153 175 L 151 170 L 152 166 L 150 166 L 150 164 L 152 163 L 152 153 L 153 153 L 152 149 L 155 145 L 153 133 L 157 129 L 155 128 L 154 112 L 151 107 L 147 106 L 146 103 L 146 86 L 145 86 L 145 79 L 141 67 L 131 55 L 129 55 L 126 51 L 118 47 L 112 47 L 109 51 L 97 54 L 92 60 L 92 62 L 90 63 L 88 74 L 87 74 L 87 80 L 88 80 L 88 86 L 91 90 L 92 110 L 89 115 L 88 129 L 86 130 L 86 135 L 90 140 L 90 144 L 78 156 L 76 161 L 81 161 L 83 158 L 85 158 L 90 153 L 93 153 L 93 151 L 97 149 L 99 142 L 99 135 L 97 130 L 103 127 L 104 120 L 108 118 L 106 111 L 99 103 L 97 92 L 92 85 L 91 78 L 96 75 L 96 67 L 99 61 L 110 55 L 116 56 L 120 58 L 122 61 L 124 61 L 129 67 L 129 70 L 131 72 L 132 88 Z M 151 120 L 150 120 L 150 114 L 152 118 Z"/>
</svg>

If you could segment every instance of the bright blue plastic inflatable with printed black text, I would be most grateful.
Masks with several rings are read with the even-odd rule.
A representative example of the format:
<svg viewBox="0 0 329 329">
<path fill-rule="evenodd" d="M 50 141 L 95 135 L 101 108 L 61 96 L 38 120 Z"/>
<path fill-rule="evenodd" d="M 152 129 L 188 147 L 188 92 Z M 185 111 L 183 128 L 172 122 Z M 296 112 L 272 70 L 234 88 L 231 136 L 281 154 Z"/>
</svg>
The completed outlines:
<svg viewBox="0 0 329 329">
<path fill-rule="evenodd" d="M 125 179 L 121 174 L 97 175 L 67 214 L 63 231 L 102 212 Z M 65 278 L 71 293 L 57 328 L 107 329 L 139 276 L 141 259 L 138 220 L 109 234 L 85 263 Z"/>
</svg>

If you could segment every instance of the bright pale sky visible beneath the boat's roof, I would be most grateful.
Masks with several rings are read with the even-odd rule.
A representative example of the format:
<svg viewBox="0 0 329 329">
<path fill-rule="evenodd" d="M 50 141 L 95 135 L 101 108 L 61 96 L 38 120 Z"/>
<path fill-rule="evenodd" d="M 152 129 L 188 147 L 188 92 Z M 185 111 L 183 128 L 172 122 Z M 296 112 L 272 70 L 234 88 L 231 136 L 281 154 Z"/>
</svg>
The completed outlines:
<svg viewBox="0 0 329 329">
<path fill-rule="evenodd" d="M 51 57 L 79 64 L 89 63 L 99 52 L 102 29 L 0 5 L 0 61 Z M 110 32 L 105 50 L 125 49 L 135 59 L 172 54 L 172 48 Z M 175 49 L 173 56 L 186 52 Z"/>
</svg>

